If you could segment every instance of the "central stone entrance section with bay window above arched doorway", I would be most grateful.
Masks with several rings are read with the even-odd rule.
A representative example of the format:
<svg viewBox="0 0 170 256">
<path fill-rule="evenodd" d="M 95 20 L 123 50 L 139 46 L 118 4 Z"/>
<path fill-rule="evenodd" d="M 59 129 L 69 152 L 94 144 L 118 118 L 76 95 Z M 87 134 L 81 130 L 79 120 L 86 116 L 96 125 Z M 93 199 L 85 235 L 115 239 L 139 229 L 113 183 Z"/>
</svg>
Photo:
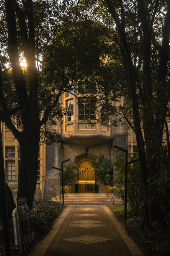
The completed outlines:
<svg viewBox="0 0 170 256">
<path fill-rule="evenodd" d="M 90 92 L 91 93 L 91 92 Z M 90 98 L 87 94 L 79 95 L 82 104 L 87 107 Z M 70 159 L 77 164 L 77 181 L 72 184 L 72 193 L 93 192 L 103 193 L 103 184 L 97 184 L 95 171 L 91 162 L 96 161 L 100 155 L 113 161 L 115 149 L 113 145 L 128 148 L 127 126 L 114 127 L 106 122 L 95 123 L 93 126 L 84 121 L 86 115 L 93 117 L 94 110 L 90 105 L 90 113 L 78 104 L 77 97 L 71 93 L 65 93 L 61 97 L 61 103 L 67 111 L 64 122 L 60 129 L 61 133 L 70 138 L 69 142 L 46 146 L 46 181 L 44 197 L 54 197 L 54 186 L 60 186 L 59 172 L 52 167 L 61 168 L 61 162 Z M 57 127 L 56 127 L 57 129 Z M 66 165 L 69 162 L 65 163 Z"/>
</svg>

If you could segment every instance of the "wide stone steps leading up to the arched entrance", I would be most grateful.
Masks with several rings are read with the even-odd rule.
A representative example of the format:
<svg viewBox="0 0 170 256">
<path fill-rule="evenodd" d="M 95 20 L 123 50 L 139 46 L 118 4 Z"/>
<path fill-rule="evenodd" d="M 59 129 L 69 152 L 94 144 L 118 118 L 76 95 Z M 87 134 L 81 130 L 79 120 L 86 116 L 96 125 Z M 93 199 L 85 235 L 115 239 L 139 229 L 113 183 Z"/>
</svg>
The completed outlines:
<svg viewBox="0 0 170 256">
<path fill-rule="evenodd" d="M 57 197 L 57 201 L 58 201 Z M 56 201 L 53 197 L 52 201 Z M 62 200 L 61 200 L 62 202 Z M 122 204 L 120 198 L 116 198 L 114 204 Z M 112 204 L 111 194 L 105 193 L 78 193 L 78 194 L 64 194 L 64 204 Z"/>
</svg>

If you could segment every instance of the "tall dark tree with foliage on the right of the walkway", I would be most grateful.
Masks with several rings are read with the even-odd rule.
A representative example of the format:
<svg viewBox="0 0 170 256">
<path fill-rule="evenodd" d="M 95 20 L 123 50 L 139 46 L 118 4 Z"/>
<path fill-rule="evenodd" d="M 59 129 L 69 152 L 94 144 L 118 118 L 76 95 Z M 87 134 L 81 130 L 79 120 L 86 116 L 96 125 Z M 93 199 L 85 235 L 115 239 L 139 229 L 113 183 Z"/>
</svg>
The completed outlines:
<svg viewBox="0 0 170 256">
<path fill-rule="evenodd" d="M 129 96 L 132 103 L 145 187 L 143 227 L 151 228 L 161 221 L 163 213 L 158 207 L 158 191 L 153 180 L 159 179 L 161 173 L 162 139 L 169 103 L 170 1 L 106 0 L 105 3 L 118 33 L 116 40 L 130 91 L 130 95 L 124 96 Z"/>
</svg>

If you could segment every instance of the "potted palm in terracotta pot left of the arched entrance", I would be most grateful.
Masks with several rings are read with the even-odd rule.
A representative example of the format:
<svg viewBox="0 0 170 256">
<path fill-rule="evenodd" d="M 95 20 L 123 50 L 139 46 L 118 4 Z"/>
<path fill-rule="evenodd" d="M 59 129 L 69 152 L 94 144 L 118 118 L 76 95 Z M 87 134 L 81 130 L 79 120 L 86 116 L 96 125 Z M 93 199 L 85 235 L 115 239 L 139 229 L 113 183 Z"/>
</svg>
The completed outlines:
<svg viewBox="0 0 170 256">
<path fill-rule="evenodd" d="M 69 163 L 69 165 L 64 167 L 63 170 L 63 184 L 67 186 L 69 189 L 66 193 L 71 193 L 71 184 L 75 182 L 75 175 L 77 174 L 77 166 L 76 163 Z"/>
</svg>

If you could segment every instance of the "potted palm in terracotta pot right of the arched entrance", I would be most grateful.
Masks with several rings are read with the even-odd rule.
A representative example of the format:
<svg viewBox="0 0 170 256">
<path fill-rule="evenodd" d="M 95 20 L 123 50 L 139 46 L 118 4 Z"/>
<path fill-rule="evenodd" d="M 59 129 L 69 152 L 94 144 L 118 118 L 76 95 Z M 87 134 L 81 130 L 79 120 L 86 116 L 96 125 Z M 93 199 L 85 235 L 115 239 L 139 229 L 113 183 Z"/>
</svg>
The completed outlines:
<svg viewBox="0 0 170 256">
<path fill-rule="evenodd" d="M 98 177 L 98 184 L 103 183 L 104 193 L 107 193 L 108 187 L 113 183 L 113 166 L 110 160 L 108 160 L 104 155 L 99 156 L 97 162 L 92 163 L 92 167 Z"/>
</svg>

